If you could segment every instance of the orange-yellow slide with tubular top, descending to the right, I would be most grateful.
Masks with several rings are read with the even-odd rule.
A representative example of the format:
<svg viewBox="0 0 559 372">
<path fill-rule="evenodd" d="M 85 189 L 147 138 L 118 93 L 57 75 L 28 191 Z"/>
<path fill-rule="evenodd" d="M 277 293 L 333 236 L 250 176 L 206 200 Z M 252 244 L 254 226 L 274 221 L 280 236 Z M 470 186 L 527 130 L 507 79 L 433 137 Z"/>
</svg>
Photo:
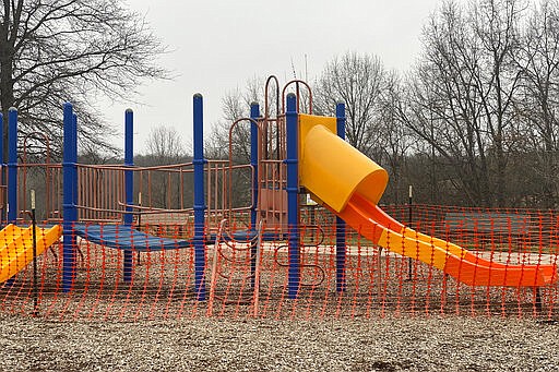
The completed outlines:
<svg viewBox="0 0 559 372">
<path fill-rule="evenodd" d="M 557 281 L 557 266 L 511 265 L 414 231 L 386 215 L 378 202 L 388 173 L 340 139 L 336 119 L 299 115 L 300 183 L 361 236 L 419 260 L 472 286 L 539 287 Z"/>
</svg>

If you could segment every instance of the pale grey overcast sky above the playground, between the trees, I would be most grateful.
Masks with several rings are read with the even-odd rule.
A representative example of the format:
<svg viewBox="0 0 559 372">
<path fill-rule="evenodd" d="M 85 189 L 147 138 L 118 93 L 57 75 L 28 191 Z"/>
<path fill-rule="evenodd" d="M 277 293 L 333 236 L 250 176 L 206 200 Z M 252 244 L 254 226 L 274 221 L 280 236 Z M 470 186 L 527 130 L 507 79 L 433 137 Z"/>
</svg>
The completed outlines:
<svg viewBox="0 0 559 372">
<path fill-rule="evenodd" d="M 374 53 L 388 69 L 407 70 L 420 51 L 421 27 L 440 0 L 128 0 L 145 15 L 170 52 L 160 63 L 173 81 L 147 83 L 134 97 L 135 153 L 150 129 L 175 127 L 192 137 L 192 95 L 204 96 L 205 133 L 221 119 L 222 97 L 248 80 L 293 79 L 293 64 L 312 82 L 334 56 Z M 122 132 L 127 105 L 102 100 L 106 118 Z M 122 146 L 122 136 L 116 140 Z"/>
</svg>

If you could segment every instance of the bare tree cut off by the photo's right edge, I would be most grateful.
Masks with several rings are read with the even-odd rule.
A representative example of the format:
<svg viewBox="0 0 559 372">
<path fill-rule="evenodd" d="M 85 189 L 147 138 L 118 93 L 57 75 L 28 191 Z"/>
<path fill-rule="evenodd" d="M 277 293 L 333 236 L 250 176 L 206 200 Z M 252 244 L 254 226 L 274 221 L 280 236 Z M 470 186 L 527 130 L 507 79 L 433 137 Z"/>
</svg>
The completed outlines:
<svg viewBox="0 0 559 372">
<path fill-rule="evenodd" d="M 544 0 L 528 16 L 514 63 L 521 75 L 516 112 L 522 121 L 519 139 L 525 144 L 516 153 L 534 151 L 534 179 L 539 183 L 544 207 L 559 202 L 559 3 Z M 524 167 L 526 157 L 524 156 Z M 526 193 L 525 193 L 526 194 Z M 528 195 L 526 195 L 528 196 Z"/>
</svg>

